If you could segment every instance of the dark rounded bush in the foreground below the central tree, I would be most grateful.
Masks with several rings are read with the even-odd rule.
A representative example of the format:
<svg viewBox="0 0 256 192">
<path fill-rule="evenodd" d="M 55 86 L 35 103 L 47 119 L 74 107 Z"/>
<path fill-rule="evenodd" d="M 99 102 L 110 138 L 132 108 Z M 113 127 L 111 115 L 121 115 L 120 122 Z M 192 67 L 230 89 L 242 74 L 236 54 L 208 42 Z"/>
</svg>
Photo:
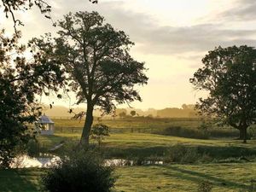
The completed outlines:
<svg viewBox="0 0 256 192">
<path fill-rule="evenodd" d="M 42 178 L 50 192 L 111 192 L 115 180 L 112 167 L 103 166 L 97 154 L 84 150 L 63 157 Z"/>
</svg>

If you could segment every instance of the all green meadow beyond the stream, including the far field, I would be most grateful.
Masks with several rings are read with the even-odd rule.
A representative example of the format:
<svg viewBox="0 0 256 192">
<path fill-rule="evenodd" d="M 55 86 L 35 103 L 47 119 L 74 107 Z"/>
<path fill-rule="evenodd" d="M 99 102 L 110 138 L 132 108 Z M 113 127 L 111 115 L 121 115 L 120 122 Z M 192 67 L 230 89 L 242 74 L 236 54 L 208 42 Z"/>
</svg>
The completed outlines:
<svg viewBox="0 0 256 192">
<path fill-rule="evenodd" d="M 242 144 L 236 140 L 238 132 L 230 127 L 212 127 L 207 132 L 212 131 L 214 137 L 207 139 L 189 137 L 191 134 L 195 137 L 205 134 L 205 130 L 199 129 L 201 119 L 103 119 L 101 123 L 110 126 L 110 137 L 102 143 L 108 158 L 162 159 L 166 156 L 166 151 L 177 144 L 198 148 L 201 154 L 209 154 L 214 159 L 256 154 L 256 141 L 252 139 L 247 144 Z M 40 148 L 46 152 L 61 142 L 78 143 L 83 125 L 84 122 L 79 120 L 55 119 L 55 135 L 38 137 Z M 76 127 L 76 130 L 73 130 L 73 127 Z M 175 136 L 175 131 L 170 131 L 172 129 L 179 131 L 179 136 Z"/>
</svg>

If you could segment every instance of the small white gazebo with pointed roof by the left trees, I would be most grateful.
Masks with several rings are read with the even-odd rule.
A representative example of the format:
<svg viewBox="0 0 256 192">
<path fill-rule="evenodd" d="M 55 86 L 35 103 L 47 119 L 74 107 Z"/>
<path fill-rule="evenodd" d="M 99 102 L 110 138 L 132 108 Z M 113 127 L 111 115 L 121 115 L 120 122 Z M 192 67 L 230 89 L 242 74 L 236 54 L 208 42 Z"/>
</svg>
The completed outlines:
<svg viewBox="0 0 256 192">
<path fill-rule="evenodd" d="M 36 127 L 41 135 L 53 135 L 55 130 L 55 122 L 44 114 L 39 118 L 38 122 L 36 123 Z"/>
</svg>

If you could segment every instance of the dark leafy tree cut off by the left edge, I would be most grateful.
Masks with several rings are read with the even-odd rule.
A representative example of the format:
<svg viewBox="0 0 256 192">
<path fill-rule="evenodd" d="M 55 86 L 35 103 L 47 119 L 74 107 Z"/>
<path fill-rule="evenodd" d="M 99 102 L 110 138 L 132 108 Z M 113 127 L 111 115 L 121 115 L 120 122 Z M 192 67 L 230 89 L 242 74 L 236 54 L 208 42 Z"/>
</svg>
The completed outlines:
<svg viewBox="0 0 256 192">
<path fill-rule="evenodd" d="M 0 167 L 8 167 L 15 148 L 33 136 L 27 124 L 41 111 L 35 96 L 57 90 L 63 80 L 60 67 L 39 53 L 27 61 L 19 38 L 20 32 L 12 38 L 0 32 Z"/>
</svg>

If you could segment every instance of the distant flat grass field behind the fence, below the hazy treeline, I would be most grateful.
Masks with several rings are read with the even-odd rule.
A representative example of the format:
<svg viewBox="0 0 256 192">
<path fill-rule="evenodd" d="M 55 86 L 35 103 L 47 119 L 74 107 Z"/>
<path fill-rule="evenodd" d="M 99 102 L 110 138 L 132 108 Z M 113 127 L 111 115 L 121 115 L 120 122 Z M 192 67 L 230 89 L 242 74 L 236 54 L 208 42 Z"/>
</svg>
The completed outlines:
<svg viewBox="0 0 256 192">
<path fill-rule="evenodd" d="M 82 132 L 84 119 L 54 119 L 55 133 L 79 133 Z M 229 126 L 219 127 L 213 124 L 206 130 L 201 129 L 201 119 L 173 118 L 125 118 L 125 119 L 95 119 L 96 123 L 103 123 L 110 127 L 111 133 L 154 133 L 158 135 L 190 137 L 190 138 L 214 138 L 214 137 L 238 137 L 239 131 Z M 248 129 L 248 135 L 256 136 L 255 129 Z"/>
</svg>

